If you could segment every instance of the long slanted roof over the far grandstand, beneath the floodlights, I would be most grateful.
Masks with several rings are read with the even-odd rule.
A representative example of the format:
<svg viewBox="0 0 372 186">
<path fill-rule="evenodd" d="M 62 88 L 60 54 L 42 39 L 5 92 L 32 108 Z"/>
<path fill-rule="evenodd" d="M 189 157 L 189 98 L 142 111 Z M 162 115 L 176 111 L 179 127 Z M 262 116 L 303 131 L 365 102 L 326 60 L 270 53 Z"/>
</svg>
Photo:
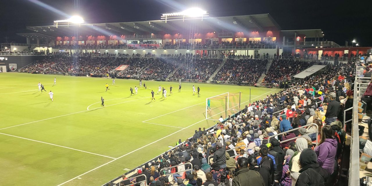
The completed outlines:
<svg viewBox="0 0 372 186">
<path fill-rule="evenodd" d="M 280 26 L 268 14 L 224 16 L 224 17 L 203 17 L 201 19 L 182 19 L 171 20 L 150 20 L 137 22 L 116 22 L 116 23 L 86 23 L 81 25 L 47 25 L 47 26 L 27 26 L 33 33 L 42 33 L 52 37 L 78 35 L 139 35 L 159 32 L 193 32 L 202 30 L 214 30 L 222 32 L 249 32 L 263 31 L 264 27 L 275 27 L 280 30 Z M 76 32 L 78 30 L 78 32 Z M 25 35 L 25 34 L 21 34 Z"/>
</svg>

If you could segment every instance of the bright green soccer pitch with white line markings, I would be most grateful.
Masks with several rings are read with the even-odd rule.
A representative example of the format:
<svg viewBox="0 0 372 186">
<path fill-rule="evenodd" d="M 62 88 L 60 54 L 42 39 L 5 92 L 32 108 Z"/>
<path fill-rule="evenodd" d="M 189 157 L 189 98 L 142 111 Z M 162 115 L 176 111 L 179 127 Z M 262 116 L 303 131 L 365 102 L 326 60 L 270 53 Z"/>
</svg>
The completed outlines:
<svg viewBox="0 0 372 186">
<path fill-rule="evenodd" d="M 47 92 L 38 92 L 38 82 Z M 105 78 L 0 73 L 0 185 L 102 185 L 191 137 L 195 129 L 215 125 L 205 120 L 207 97 L 241 92 L 244 108 L 250 88 L 252 101 L 279 91 L 194 83 L 201 88 L 198 96 L 193 83 L 182 83 L 181 92 L 177 82 L 144 83 L 147 90 L 130 96 L 129 88 L 139 81 L 117 79 L 111 86 L 112 79 Z M 167 99 L 156 94 L 159 85 L 166 87 Z M 224 114 L 211 112 L 215 119 Z"/>
</svg>

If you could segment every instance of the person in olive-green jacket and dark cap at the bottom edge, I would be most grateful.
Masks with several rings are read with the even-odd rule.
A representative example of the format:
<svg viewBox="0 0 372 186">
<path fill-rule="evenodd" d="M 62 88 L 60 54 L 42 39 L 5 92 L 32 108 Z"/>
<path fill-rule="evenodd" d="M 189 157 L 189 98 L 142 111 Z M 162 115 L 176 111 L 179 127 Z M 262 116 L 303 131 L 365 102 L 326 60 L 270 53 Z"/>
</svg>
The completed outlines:
<svg viewBox="0 0 372 186">
<path fill-rule="evenodd" d="M 261 174 L 258 171 L 248 169 L 247 158 L 239 158 L 238 169 L 232 180 L 232 186 L 265 186 Z"/>
</svg>

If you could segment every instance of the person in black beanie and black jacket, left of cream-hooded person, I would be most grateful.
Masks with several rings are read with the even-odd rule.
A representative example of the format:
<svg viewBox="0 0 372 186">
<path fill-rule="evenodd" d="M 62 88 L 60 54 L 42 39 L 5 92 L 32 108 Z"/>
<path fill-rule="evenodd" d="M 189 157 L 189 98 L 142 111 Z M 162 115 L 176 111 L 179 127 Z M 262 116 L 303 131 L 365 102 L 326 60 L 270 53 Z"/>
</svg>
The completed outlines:
<svg viewBox="0 0 372 186">
<path fill-rule="evenodd" d="M 284 161 L 284 151 L 282 148 L 280 148 L 280 142 L 276 140 L 275 138 L 272 138 L 270 141 L 271 143 L 271 149 L 269 151 L 269 154 L 272 155 L 275 159 L 276 169 L 274 173 L 274 179 L 280 180 L 282 177 L 282 170 L 283 170 L 283 161 Z"/>
</svg>

